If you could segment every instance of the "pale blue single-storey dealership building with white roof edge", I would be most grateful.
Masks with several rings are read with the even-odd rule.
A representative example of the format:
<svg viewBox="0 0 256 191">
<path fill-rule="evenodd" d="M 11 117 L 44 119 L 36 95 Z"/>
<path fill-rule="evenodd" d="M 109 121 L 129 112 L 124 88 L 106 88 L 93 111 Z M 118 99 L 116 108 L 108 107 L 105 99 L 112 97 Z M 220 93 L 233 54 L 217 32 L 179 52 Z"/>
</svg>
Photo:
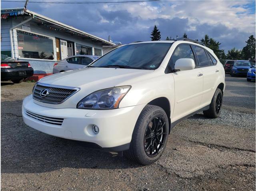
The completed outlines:
<svg viewBox="0 0 256 191">
<path fill-rule="evenodd" d="M 102 46 L 114 43 L 24 8 L 1 10 L 1 54 L 29 61 L 35 74 L 68 56 L 102 56 Z"/>
</svg>

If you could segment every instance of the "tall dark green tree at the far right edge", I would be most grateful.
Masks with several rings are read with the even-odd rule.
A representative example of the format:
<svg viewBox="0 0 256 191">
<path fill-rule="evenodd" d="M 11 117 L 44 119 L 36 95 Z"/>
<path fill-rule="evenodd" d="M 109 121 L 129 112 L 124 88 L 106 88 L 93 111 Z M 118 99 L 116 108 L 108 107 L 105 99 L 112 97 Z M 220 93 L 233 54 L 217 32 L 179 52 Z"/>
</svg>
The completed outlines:
<svg viewBox="0 0 256 191">
<path fill-rule="evenodd" d="M 242 58 L 244 60 L 255 60 L 255 38 L 253 35 L 249 36 L 246 41 L 246 46 L 242 49 Z"/>
</svg>

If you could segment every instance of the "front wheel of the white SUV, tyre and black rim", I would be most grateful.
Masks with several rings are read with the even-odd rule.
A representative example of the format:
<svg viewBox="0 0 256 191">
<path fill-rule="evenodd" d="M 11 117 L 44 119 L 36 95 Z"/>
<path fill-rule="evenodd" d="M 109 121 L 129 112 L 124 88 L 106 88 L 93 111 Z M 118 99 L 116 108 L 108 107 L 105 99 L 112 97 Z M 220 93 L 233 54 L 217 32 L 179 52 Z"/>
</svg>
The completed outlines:
<svg viewBox="0 0 256 191">
<path fill-rule="evenodd" d="M 164 109 L 146 105 L 134 127 L 130 149 L 124 151 L 124 156 L 142 165 L 154 163 L 164 152 L 168 133 L 169 122 Z"/>
</svg>

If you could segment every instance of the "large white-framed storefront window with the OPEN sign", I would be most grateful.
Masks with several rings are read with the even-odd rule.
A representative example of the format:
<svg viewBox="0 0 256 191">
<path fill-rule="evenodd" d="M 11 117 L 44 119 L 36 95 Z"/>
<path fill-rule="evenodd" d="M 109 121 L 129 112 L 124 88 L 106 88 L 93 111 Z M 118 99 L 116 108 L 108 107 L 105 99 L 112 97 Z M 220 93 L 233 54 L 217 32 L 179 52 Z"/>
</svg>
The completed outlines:
<svg viewBox="0 0 256 191">
<path fill-rule="evenodd" d="M 53 60 L 52 38 L 17 30 L 19 58 Z"/>
</svg>

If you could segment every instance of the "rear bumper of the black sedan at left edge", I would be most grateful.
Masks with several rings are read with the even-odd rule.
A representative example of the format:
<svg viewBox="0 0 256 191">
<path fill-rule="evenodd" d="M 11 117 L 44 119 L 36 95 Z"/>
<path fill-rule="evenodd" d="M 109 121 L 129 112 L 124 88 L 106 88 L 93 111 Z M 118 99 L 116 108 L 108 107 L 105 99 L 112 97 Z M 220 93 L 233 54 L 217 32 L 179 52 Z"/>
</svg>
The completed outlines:
<svg viewBox="0 0 256 191">
<path fill-rule="evenodd" d="M 26 72 L 26 75 L 19 75 L 19 72 Z M 33 76 L 33 68 L 1 68 L 1 80 L 15 80 Z"/>
</svg>

